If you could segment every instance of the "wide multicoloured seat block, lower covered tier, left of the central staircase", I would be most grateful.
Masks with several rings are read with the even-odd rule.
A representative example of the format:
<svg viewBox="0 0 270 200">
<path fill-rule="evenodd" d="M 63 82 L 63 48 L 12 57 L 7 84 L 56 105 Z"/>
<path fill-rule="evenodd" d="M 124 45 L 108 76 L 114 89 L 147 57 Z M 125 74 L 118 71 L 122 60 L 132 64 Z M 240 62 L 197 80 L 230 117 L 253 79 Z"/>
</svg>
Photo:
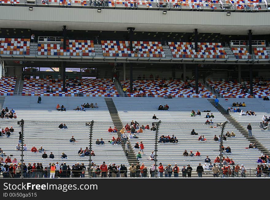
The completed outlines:
<svg viewBox="0 0 270 200">
<path fill-rule="evenodd" d="M 26 79 L 24 80 L 24 87 L 22 90 L 23 96 L 75 96 L 78 93 L 83 93 L 84 96 L 103 96 L 103 97 L 117 97 L 119 96 L 114 83 L 109 79 L 81 79 L 81 86 L 72 87 L 72 80 L 67 80 L 71 86 L 66 87 L 66 91 L 62 91 L 63 81 L 54 79 Z M 47 85 L 50 86 L 50 90 L 53 92 L 47 93 Z"/>
</svg>

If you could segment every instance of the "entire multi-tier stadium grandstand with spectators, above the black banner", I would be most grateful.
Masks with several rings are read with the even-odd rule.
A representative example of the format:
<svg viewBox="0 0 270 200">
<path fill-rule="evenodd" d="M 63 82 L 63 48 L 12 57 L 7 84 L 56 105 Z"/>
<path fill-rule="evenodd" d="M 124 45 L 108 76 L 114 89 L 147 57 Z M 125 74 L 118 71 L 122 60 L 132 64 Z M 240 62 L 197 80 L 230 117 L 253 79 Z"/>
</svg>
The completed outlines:
<svg viewBox="0 0 270 200">
<path fill-rule="evenodd" d="M 269 0 L 0 0 L 0 177 L 270 177 Z"/>
</svg>

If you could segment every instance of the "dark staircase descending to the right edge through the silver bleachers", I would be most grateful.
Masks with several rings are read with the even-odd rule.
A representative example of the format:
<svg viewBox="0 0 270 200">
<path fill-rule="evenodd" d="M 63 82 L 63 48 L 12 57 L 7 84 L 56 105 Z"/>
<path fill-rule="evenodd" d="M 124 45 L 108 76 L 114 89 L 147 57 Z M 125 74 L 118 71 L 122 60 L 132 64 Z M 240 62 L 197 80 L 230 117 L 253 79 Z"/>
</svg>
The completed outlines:
<svg viewBox="0 0 270 200">
<path fill-rule="evenodd" d="M 230 114 L 227 113 L 227 111 L 220 105 L 215 105 L 214 99 L 207 99 L 226 119 L 243 135 L 247 140 L 249 140 L 250 143 L 256 142 L 258 149 L 262 153 L 266 153 L 267 155 L 270 154 L 267 148 L 264 147 L 263 144 L 260 143 L 259 140 L 257 140 L 255 137 L 249 137 L 249 133 L 245 127 L 243 127 L 234 117 L 232 117 Z"/>
</svg>

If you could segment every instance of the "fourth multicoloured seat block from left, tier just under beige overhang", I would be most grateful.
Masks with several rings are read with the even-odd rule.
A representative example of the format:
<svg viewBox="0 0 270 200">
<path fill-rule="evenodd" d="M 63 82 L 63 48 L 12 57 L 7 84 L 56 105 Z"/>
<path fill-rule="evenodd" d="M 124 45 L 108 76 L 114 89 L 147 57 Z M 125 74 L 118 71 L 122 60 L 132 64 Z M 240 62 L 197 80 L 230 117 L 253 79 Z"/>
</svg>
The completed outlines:
<svg viewBox="0 0 270 200">
<path fill-rule="evenodd" d="M 199 52 L 195 52 L 194 42 L 168 42 L 174 58 L 226 58 L 226 52 L 220 43 L 198 43 Z"/>
</svg>

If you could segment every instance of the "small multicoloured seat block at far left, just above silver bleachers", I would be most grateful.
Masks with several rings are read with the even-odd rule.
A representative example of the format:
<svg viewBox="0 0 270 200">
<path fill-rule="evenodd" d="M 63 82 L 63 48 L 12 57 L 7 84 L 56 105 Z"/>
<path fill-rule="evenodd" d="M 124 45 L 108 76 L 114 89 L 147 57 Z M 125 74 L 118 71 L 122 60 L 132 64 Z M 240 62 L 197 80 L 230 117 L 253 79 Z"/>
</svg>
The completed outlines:
<svg viewBox="0 0 270 200">
<path fill-rule="evenodd" d="M 12 96 L 14 94 L 16 77 L 2 77 L 0 83 L 0 95 Z"/>
</svg>

